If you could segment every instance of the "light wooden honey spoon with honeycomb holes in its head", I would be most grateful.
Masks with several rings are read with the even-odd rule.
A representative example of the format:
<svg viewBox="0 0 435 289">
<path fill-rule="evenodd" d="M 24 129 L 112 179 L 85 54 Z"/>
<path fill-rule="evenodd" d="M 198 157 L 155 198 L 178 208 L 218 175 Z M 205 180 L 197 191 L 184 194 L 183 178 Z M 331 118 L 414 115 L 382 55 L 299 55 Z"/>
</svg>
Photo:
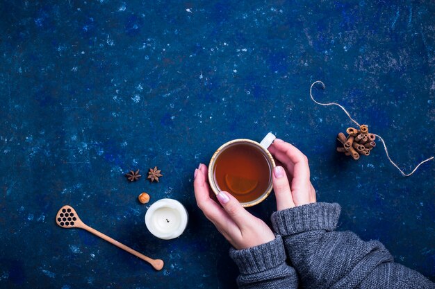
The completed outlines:
<svg viewBox="0 0 435 289">
<path fill-rule="evenodd" d="M 120 247 L 121 249 L 124 249 L 126 252 L 129 252 L 133 254 L 134 256 L 147 261 L 148 263 L 153 266 L 156 270 L 162 270 L 163 268 L 163 260 L 161 259 L 151 259 L 145 255 L 140 254 L 136 250 L 131 249 L 130 247 L 127 247 L 126 245 L 118 242 L 117 240 L 113 240 L 113 238 L 110 238 L 109 236 L 104 235 L 103 233 L 100 233 L 96 229 L 92 229 L 88 225 L 86 225 L 82 220 L 80 220 L 79 216 L 77 215 L 76 211 L 68 205 L 63 206 L 60 208 L 56 215 L 56 224 L 58 224 L 60 227 L 69 229 L 69 228 L 81 228 L 85 229 L 86 231 L 89 231 L 90 233 L 94 234 L 95 236 L 99 236 L 100 238 L 108 241 L 108 243 L 112 243 L 116 247 Z"/>
</svg>

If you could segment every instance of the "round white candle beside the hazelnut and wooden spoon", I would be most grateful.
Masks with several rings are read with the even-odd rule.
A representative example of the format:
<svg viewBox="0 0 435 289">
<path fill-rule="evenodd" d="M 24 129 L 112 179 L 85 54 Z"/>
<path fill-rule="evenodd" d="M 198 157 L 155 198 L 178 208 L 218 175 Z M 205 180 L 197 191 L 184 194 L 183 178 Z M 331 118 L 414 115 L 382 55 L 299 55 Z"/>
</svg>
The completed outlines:
<svg viewBox="0 0 435 289">
<path fill-rule="evenodd" d="M 161 199 L 151 204 L 145 213 L 145 225 L 157 238 L 177 238 L 188 225 L 188 212 L 177 200 Z"/>
</svg>

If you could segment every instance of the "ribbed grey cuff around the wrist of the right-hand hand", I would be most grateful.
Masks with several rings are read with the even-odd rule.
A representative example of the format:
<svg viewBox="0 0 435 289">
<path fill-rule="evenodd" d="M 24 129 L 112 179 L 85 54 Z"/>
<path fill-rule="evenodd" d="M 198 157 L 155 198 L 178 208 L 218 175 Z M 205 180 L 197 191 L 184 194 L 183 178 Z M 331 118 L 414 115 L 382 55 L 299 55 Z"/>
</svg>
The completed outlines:
<svg viewBox="0 0 435 289">
<path fill-rule="evenodd" d="M 281 236 L 305 231 L 334 231 L 340 216 L 340 205 L 317 202 L 272 213 L 272 226 Z"/>
</svg>

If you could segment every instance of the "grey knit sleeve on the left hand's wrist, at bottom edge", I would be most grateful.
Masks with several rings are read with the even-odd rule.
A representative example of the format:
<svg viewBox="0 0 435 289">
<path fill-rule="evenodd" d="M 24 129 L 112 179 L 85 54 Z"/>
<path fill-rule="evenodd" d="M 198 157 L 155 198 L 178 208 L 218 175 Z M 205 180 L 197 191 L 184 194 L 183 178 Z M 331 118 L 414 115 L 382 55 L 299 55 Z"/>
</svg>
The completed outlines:
<svg viewBox="0 0 435 289">
<path fill-rule="evenodd" d="M 286 251 L 281 236 L 269 243 L 248 249 L 230 249 L 231 259 L 238 265 L 239 288 L 297 288 L 295 269 L 286 264 Z"/>
</svg>

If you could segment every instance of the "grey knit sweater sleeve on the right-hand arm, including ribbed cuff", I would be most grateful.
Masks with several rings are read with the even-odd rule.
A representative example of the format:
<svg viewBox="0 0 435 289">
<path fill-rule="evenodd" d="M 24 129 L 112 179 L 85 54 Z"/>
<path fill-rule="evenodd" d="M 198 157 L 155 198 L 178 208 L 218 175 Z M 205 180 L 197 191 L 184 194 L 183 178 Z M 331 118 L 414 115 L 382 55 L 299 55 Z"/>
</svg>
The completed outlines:
<svg viewBox="0 0 435 289">
<path fill-rule="evenodd" d="M 338 204 L 321 202 L 272 214 L 303 288 L 435 288 L 420 273 L 394 263 L 379 241 L 334 231 L 339 215 Z"/>
</svg>

